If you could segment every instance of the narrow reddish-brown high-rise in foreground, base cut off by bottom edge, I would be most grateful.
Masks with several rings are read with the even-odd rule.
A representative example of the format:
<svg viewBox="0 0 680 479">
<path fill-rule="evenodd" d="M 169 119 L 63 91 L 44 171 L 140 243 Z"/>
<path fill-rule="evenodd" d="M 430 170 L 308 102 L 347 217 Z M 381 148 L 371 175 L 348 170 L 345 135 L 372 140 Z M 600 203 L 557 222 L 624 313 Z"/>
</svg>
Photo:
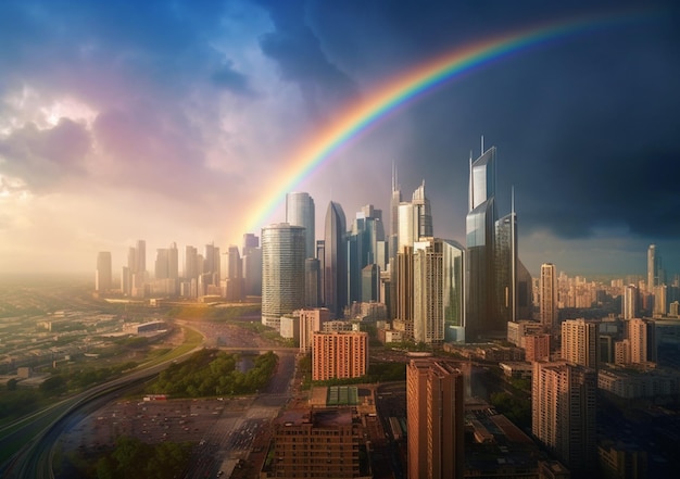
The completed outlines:
<svg viewBox="0 0 680 479">
<path fill-rule="evenodd" d="M 458 479 L 464 472 L 464 379 L 442 361 L 406 367 L 408 477 Z"/>
</svg>

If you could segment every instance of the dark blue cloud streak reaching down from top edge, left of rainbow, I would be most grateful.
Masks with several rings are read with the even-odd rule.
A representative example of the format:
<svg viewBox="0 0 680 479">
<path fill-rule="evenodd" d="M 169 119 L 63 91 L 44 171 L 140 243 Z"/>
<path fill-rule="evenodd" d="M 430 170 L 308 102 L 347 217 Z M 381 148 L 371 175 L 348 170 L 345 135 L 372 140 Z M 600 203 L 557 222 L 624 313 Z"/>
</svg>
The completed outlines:
<svg viewBox="0 0 680 479">
<path fill-rule="evenodd" d="M 262 51 L 278 63 L 282 78 L 299 85 L 312 114 L 323 116 L 356 96 L 353 80 L 328 59 L 306 24 L 303 0 L 256 2 L 269 11 L 276 27 L 262 36 Z"/>
</svg>

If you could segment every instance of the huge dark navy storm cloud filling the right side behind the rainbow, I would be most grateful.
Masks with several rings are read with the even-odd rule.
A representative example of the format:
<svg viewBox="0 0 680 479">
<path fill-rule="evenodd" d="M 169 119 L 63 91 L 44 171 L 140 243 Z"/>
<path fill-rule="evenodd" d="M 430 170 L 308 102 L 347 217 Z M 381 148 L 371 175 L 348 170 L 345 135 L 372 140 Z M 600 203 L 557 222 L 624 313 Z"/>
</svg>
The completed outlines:
<svg viewBox="0 0 680 479">
<path fill-rule="evenodd" d="M 441 172 L 428 186 L 455 196 L 441 210 L 464 212 L 468 154 L 479 154 L 484 135 L 499 149 L 500 213 L 509 211 L 514 185 L 521 231 L 565 239 L 603 228 L 641 238 L 680 232 L 671 219 L 680 188 L 666 179 L 680 177 L 679 24 L 668 2 L 311 3 L 327 54 L 356 76 L 399 75 L 437 53 L 546 21 L 640 9 L 628 22 L 537 45 L 419 99 L 400 112 L 415 131 L 398 164 L 402 178 Z"/>
</svg>

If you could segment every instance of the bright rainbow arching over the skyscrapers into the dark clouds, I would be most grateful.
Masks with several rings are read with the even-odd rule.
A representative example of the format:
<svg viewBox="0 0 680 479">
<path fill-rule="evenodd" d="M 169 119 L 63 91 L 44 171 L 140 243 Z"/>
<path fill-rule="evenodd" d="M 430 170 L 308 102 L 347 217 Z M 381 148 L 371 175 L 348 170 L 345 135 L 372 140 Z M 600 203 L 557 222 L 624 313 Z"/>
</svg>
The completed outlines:
<svg viewBox="0 0 680 479">
<path fill-rule="evenodd" d="M 525 51 L 530 47 L 590 29 L 639 20 L 640 16 L 640 12 L 589 16 L 525 28 L 458 48 L 378 86 L 372 94 L 365 96 L 340 112 L 337 115 L 339 119 L 326 126 L 300 148 L 286 166 L 282 178 L 278 178 L 275 188 L 269 190 L 269 194 L 262 198 L 254 206 L 249 215 L 250 220 L 245 231 L 255 231 L 255 228 L 262 226 L 284 201 L 286 193 L 293 191 L 295 185 L 328 161 L 342 146 L 366 131 L 378 119 L 417 97 L 464 73 Z"/>
</svg>

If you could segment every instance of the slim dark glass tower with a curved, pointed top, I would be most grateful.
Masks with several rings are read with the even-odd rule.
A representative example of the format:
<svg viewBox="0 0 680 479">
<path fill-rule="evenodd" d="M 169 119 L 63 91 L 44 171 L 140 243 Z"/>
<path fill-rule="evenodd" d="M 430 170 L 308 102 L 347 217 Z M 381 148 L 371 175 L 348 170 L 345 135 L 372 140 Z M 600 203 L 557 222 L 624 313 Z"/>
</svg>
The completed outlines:
<svg viewBox="0 0 680 479">
<path fill-rule="evenodd" d="M 331 201 L 324 230 L 324 301 L 333 317 L 344 316 L 348 305 L 347 220 L 339 203 Z"/>
</svg>

